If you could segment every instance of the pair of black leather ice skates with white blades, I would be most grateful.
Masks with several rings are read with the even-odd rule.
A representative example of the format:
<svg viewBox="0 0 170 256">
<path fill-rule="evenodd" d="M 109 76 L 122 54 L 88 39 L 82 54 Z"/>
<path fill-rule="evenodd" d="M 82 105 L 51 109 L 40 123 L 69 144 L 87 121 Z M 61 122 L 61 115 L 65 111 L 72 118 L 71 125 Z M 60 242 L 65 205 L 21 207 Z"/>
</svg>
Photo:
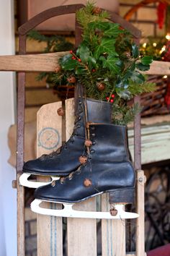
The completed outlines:
<svg viewBox="0 0 170 256">
<path fill-rule="evenodd" d="M 108 102 L 78 98 L 76 120 L 70 139 L 57 151 L 23 166 L 19 181 L 35 187 L 31 208 L 36 213 L 73 218 L 137 218 L 125 212 L 135 193 L 135 171 L 130 163 L 126 127 L 111 124 Z M 51 176 L 47 183 L 31 182 L 31 174 Z M 81 202 L 109 193 L 109 212 L 73 210 Z M 42 201 L 63 204 L 62 210 L 41 208 Z"/>
</svg>

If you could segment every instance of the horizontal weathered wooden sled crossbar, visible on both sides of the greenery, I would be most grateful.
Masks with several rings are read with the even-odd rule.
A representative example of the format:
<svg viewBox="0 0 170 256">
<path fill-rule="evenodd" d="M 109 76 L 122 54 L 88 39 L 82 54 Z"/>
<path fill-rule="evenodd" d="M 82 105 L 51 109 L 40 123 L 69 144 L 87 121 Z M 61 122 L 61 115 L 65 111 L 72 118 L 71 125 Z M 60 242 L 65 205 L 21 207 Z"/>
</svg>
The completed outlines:
<svg viewBox="0 0 170 256">
<path fill-rule="evenodd" d="M 58 67 L 58 59 L 68 51 L 52 54 L 28 54 L 14 56 L 0 56 L 0 71 L 24 72 L 54 72 Z M 166 61 L 153 61 L 151 69 L 145 74 L 170 74 L 170 63 Z"/>
</svg>

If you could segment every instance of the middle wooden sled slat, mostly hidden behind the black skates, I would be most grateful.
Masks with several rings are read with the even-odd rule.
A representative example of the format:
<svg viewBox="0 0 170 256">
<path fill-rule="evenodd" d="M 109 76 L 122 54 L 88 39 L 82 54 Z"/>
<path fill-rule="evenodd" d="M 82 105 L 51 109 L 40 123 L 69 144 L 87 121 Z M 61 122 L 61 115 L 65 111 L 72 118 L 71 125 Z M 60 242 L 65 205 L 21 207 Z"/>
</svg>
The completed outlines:
<svg viewBox="0 0 170 256">
<path fill-rule="evenodd" d="M 73 99 L 66 100 L 66 140 L 73 131 Z M 76 204 L 76 210 L 96 210 L 95 198 Z M 97 256 L 97 221 L 95 219 L 68 218 L 68 256 Z"/>
</svg>

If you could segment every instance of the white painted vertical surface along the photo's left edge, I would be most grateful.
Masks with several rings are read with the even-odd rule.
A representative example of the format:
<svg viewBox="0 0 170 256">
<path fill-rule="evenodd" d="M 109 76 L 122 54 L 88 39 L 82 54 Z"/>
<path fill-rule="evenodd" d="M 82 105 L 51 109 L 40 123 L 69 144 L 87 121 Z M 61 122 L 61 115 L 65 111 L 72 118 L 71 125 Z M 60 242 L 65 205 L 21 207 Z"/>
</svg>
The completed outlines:
<svg viewBox="0 0 170 256">
<path fill-rule="evenodd" d="M 14 54 L 14 1 L 0 0 L 0 55 Z M 15 169 L 9 166 L 7 133 L 14 124 L 15 77 L 12 72 L 0 72 L 0 255 L 17 256 L 17 189 Z"/>
</svg>

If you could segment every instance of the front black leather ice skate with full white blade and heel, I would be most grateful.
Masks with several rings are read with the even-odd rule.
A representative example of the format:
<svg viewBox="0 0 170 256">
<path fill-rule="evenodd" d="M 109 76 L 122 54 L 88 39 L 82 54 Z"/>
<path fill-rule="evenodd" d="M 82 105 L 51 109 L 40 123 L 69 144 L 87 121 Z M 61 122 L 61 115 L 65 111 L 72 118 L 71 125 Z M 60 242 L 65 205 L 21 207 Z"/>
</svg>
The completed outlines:
<svg viewBox="0 0 170 256">
<path fill-rule="evenodd" d="M 89 155 L 86 163 L 66 178 L 39 187 L 31 208 L 36 213 L 73 218 L 137 218 L 125 212 L 135 192 L 135 171 L 129 161 L 126 127 L 114 124 L 89 124 Z M 72 205 L 109 193 L 109 213 L 73 210 Z M 63 203 L 62 210 L 40 208 L 40 202 Z"/>
</svg>

